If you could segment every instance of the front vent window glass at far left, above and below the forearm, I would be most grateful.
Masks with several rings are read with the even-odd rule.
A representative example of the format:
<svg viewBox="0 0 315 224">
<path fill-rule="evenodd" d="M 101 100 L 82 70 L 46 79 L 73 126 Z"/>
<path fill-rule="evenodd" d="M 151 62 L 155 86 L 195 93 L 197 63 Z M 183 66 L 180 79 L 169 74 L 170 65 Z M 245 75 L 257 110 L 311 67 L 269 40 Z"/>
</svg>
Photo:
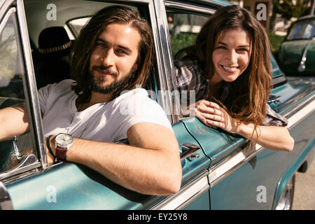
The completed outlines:
<svg viewBox="0 0 315 224">
<path fill-rule="evenodd" d="M 25 102 L 23 76 L 18 25 L 15 8 L 12 8 L 0 25 L 0 109 Z M 14 169 L 35 152 L 31 132 L 14 140 L 0 141 L 0 179 L 1 173 Z"/>
</svg>

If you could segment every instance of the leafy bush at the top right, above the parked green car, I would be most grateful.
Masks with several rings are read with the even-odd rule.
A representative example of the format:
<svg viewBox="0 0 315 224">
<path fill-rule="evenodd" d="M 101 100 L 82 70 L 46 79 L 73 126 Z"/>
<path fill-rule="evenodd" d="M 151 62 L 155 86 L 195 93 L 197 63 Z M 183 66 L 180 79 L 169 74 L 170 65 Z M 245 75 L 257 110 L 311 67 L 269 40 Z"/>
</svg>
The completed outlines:
<svg viewBox="0 0 315 224">
<path fill-rule="evenodd" d="M 311 0 L 295 0 L 295 5 L 292 0 L 274 0 L 274 13 L 279 13 L 283 18 L 300 18 L 309 10 Z"/>
</svg>

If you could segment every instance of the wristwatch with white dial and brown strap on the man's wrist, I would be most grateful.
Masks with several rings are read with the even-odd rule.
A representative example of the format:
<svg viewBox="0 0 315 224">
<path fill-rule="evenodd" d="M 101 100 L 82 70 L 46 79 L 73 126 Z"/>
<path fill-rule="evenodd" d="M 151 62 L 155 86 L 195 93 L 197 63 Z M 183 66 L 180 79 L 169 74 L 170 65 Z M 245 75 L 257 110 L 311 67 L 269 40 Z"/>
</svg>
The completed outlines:
<svg viewBox="0 0 315 224">
<path fill-rule="evenodd" d="M 55 137 L 57 160 L 66 161 L 66 151 L 73 145 L 73 137 L 70 134 L 59 133 Z"/>
</svg>

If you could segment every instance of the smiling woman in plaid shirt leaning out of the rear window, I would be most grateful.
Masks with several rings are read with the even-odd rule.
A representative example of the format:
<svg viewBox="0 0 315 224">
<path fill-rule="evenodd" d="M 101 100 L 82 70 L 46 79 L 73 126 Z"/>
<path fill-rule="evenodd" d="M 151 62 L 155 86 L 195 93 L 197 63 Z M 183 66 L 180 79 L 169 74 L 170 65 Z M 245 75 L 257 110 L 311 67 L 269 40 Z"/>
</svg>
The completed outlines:
<svg viewBox="0 0 315 224">
<path fill-rule="evenodd" d="M 269 41 L 255 17 L 239 6 L 211 15 L 195 45 L 177 52 L 179 90 L 195 90 L 195 115 L 209 127 L 239 134 L 265 148 L 292 151 L 286 118 L 267 104 L 272 89 Z"/>
</svg>

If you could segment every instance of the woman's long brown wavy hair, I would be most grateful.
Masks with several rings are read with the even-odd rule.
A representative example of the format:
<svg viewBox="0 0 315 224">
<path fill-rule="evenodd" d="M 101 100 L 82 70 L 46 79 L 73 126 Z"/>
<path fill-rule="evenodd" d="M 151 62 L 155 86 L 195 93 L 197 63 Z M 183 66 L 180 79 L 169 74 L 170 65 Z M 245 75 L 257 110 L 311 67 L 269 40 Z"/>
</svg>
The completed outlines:
<svg viewBox="0 0 315 224">
<path fill-rule="evenodd" d="M 253 123 L 254 130 L 265 120 L 266 103 L 272 88 L 272 67 L 269 61 L 269 39 L 253 14 L 239 6 L 225 6 L 211 15 L 198 34 L 195 45 L 176 53 L 176 59 L 197 59 L 201 76 L 214 76 L 212 52 L 227 29 L 241 28 L 251 36 L 251 58 L 246 70 L 230 83 L 228 99 L 221 104 L 232 118 Z M 253 135 L 252 135 L 253 137 Z"/>
</svg>

